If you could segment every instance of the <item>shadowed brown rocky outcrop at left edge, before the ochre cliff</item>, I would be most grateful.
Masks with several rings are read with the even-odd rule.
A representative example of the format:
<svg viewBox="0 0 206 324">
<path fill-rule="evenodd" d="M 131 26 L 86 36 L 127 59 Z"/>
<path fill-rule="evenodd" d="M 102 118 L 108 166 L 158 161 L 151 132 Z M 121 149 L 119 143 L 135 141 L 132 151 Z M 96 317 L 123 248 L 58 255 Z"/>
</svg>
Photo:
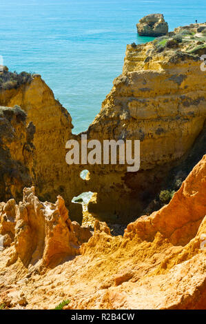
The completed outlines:
<svg viewBox="0 0 206 324">
<path fill-rule="evenodd" d="M 23 188 L 35 178 L 34 132 L 19 106 L 0 107 L 0 201 L 21 199 Z"/>
</svg>

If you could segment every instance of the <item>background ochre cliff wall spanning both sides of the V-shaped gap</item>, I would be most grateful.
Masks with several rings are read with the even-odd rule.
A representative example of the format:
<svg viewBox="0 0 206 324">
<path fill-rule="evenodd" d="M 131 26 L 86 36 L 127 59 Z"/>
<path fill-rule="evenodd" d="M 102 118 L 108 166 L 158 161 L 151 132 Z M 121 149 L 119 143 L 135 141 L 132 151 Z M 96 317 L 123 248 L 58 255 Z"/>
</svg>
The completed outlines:
<svg viewBox="0 0 206 324">
<path fill-rule="evenodd" d="M 68 165 L 65 143 L 69 139 L 81 143 L 81 134 L 72 134 L 70 114 L 39 75 L 19 88 L 0 92 L 1 104 L 21 105 L 36 126 L 34 185 L 42 201 L 54 203 L 61 194 L 72 221 L 81 223 L 81 204 L 72 199 L 94 192 L 88 205 L 92 216 L 128 223 L 145 214 L 179 172 L 181 181 L 185 179 L 205 153 L 206 109 L 206 78 L 200 69 L 204 28 L 199 32 L 200 24 L 186 27 L 150 43 L 127 45 L 123 73 L 114 79 L 101 111 L 85 132 L 87 141 L 101 143 L 139 139 L 138 172 L 127 172 L 127 165 L 119 163 Z M 89 171 L 87 179 L 81 178 L 82 170 Z"/>
</svg>

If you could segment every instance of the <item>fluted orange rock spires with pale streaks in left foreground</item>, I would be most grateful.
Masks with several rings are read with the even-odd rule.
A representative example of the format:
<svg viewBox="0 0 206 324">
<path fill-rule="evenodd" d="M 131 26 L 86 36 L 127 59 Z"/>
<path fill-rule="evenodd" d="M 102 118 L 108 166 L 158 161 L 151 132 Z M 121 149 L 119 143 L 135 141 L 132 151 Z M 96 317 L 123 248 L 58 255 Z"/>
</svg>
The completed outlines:
<svg viewBox="0 0 206 324">
<path fill-rule="evenodd" d="M 23 190 L 16 213 L 15 250 L 25 266 L 54 266 L 79 254 L 79 245 L 64 200 L 41 203 L 34 188 Z"/>
</svg>

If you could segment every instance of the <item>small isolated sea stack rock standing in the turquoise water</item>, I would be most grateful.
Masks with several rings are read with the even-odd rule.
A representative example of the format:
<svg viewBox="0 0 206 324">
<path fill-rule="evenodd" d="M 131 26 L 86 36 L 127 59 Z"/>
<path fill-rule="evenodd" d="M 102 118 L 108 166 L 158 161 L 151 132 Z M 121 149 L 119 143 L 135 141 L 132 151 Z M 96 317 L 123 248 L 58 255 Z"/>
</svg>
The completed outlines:
<svg viewBox="0 0 206 324">
<path fill-rule="evenodd" d="M 163 14 L 148 14 L 136 24 L 140 36 L 163 36 L 168 32 L 168 25 Z"/>
</svg>

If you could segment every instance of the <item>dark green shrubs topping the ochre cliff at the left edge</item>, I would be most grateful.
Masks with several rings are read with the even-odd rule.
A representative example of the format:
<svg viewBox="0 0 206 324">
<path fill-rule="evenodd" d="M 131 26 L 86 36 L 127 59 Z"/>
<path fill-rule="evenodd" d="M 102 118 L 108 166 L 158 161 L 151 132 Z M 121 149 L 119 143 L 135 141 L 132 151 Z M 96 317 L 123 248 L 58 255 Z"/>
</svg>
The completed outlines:
<svg viewBox="0 0 206 324">
<path fill-rule="evenodd" d="M 18 88 L 21 84 L 31 81 L 32 74 L 28 72 L 10 72 L 6 67 L 3 68 L 3 72 L 0 72 L 0 90 Z"/>
</svg>

